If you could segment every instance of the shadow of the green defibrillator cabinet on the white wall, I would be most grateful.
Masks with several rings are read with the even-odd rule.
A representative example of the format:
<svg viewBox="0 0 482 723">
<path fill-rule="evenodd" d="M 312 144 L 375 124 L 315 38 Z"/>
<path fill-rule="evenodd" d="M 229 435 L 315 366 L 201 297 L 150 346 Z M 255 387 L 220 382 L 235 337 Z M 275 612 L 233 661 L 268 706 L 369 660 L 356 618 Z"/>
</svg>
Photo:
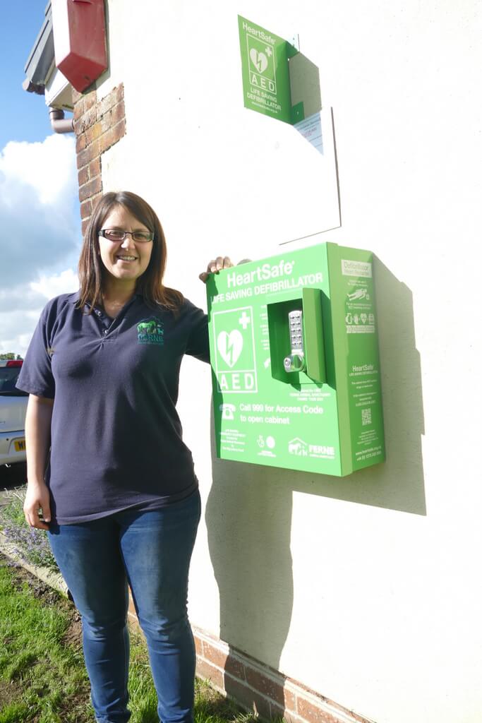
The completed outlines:
<svg viewBox="0 0 482 723">
<path fill-rule="evenodd" d="M 346 477 L 295 473 L 293 490 L 426 515 L 421 435 L 423 399 L 413 297 L 374 257 L 387 461 Z"/>
</svg>

